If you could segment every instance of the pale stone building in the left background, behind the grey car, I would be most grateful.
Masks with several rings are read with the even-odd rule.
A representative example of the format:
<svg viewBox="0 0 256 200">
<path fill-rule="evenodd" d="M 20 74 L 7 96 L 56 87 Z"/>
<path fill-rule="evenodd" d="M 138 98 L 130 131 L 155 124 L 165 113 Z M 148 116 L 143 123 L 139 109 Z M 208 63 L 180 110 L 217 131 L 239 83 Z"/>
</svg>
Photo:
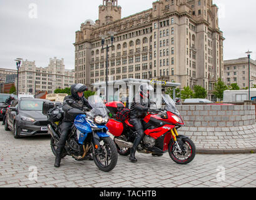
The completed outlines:
<svg viewBox="0 0 256 200">
<path fill-rule="evenodd" d="M 36 67 L 35 61 L 23 61 L 19 68 L 19 93 L 29 89 L 54 93 L 55 89 L 70 88 L 74 84 L 74 70 L 65 69 L 64 59 L 50 59 L 46 68 Z"/>
</svg>

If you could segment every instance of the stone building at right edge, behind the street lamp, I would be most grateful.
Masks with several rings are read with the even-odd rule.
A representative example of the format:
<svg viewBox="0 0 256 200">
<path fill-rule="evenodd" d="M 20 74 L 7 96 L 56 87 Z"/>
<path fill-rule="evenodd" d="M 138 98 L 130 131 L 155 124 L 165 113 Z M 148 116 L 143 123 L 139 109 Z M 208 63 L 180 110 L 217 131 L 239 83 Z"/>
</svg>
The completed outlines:
<svg viewBox="0 0 256 200">
<path fill-rule="evenodd" d="M 248 87 L 248 58 L 224 61 L 225 84 L 237 83 L 240 89 Z M 250 59 L 250 81 L 252 88 L 256 84 L 256 61 Z"/>
</svg>

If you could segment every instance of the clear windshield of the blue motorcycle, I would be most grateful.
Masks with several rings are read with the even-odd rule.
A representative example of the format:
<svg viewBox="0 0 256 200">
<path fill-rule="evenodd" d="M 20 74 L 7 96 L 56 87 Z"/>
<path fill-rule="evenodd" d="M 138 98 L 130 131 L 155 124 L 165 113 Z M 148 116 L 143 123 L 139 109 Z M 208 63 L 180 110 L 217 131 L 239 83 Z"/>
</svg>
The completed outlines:
<svg viewBox="0 0 256 200">
<path fill-rule="evenodd" d="M 103 118 L 105 116 L 108 116 L 108 113 L 106 112 L 106 106 L 103 103 L 102 99 L 100 98 L 100 96 L 90 96 L 88 98 L 88 102 L 90 104 L 90 106 L 93 108 L 91 109 L 91 114 L 93 117 L 100 115 Z"/>
</svg>

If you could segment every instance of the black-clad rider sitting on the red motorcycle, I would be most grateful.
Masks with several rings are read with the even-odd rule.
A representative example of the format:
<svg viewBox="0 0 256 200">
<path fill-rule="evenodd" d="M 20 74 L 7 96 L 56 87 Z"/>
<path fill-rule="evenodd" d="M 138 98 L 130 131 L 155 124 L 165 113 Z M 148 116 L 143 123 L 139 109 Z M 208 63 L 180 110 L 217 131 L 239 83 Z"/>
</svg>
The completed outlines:
<svg viewBox="0 0 256 200">
<path fill-rule="evenodd" d="M 154 91 L 152 86 L 148 86 L 148 84 L 141 84 L 138 89 L 139 94 L 135 96 L 134 102 L 131 104 L 130 121 L 137 132 L 129 158 L 133 163 L 137 162 L 137 159 L 135 158 L 136 149 L 144 136 L 142 119 L 145 118 L 148 109 L 150 109 L 150 91 Z"/>
</svg>

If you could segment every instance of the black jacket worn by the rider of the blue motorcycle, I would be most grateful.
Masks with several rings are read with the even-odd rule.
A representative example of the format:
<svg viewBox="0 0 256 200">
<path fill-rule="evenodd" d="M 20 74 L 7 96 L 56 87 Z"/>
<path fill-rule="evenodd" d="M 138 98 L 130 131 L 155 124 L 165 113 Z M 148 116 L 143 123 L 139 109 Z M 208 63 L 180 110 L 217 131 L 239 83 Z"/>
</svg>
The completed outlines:
<svg viewBox="0 0 256 200">
<path fill-rule="evenodd" d="M 68 104 L 66 102 L 67 99 L 72 99 L 75 103 L 74 104 Z M 71 95 L 66 96 L 64 98 L 64 102 L 63 102 L 63 106 L 62 106 L 62 109 L 64 111 L 64 119 L 63 119 L 63 121 L 64 122 L 71 122 L 71 123 L 73 123 L 74 122 L 74 116 L 69 115 L 68 111 L 70 109 L 72 109 L 72 108 L 76 108 L 76 109 L 79 109 L 79 110 L 83 111 L 84 107 L 92 109 L 90 104 L 88 103 L 88 100 L 86 98 L 81 98 L 80 100 L 76 100 Z"/>
</svg>

